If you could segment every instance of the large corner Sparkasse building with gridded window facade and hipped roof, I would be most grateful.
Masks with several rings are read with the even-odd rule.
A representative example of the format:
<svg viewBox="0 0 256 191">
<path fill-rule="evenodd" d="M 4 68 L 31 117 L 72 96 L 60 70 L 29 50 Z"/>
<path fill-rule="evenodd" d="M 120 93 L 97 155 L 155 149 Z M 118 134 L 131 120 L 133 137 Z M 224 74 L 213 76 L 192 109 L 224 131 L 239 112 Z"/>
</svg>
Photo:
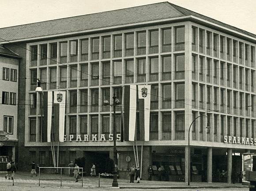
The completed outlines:
<svg viewBox="0 0 256 191">
<path fill-rule="evenodd" d="M 32 160 L 52 165 L 50 143 L 41 141 L 37 78 L 45 93 L 67 93 L 59 165 L 79 158 L 87 171 L 96 162 L 104 172 L 113 158 L 113 108 L 103 100 L 111 103 L 115 92 L 124 104 L 122 86 L 129 84 L 151 84 L 150 140 L 136 142 L 139 162 L 143 145 L 143 178 L 149 165 L 164 165 L 169 180 L 188 181 L 188 129 L 200 115 L 207 117 L 190 132 L 192 181 L 230 182 L 241 154 L 255 148 L 255 34 L 164 2 L 3 28 L 0 37 L 23 58 L 21 167 Z M 119 127 L 118 107 L 116 121 Z M 92 141 L 95 134 L 106 141 Z M 120 176 L 135 164 L 133 145 L 117 142 Z"/>
</svg>

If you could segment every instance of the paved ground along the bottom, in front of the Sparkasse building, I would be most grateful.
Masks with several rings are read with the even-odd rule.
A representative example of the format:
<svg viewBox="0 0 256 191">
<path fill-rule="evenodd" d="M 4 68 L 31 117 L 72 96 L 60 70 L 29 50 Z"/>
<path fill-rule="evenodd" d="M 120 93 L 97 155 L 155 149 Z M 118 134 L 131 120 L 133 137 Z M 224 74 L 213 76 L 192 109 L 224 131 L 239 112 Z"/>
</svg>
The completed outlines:
<svg viewBox="0 0 256 191">
<path fill-rule="evenodd" d="M 69 190 L 69 189 L 88 189 L 88 190 L 114 190 L 116 188 L 112 187 L 113 179 L 100 179 L 99 187 L 99 178 L 98 177 L 83 177 L 83 187 L 82 180 L 79 179 L 79 182 L 76 183 L 75 179 L 71 176 L 62 175 L 60 181 L 60 174 L 46 174 L 41 173 L 40 176 L 40 187 L 39 187 L 39 176 L 30 177 L 28 172 L 17 172 L 15 173 L 15 178 L 13 180 L 5 179 L 5 174 L 0 174 L 0 190 Z M 42 180 L 43 179 L 43 180 Z M 60 187 L 60 182 L 61 186 Z M 135 181 L 136 182 L 136 181 Z M 14 186 L 12 186 L 14 184 Z M 133 189 L 133 190 L 148 190 L 148 189 L 175 189 L 176 190 L 192 190 L 192 191 L 203 191 L 203 190 L 248 190 L 248 185 L 242 184 L 227 184 L 227 183 L 195 183 L 192 182 L 188 186 L 184 182 L 169 182 L 169 181 L 148 181 L 141 180 L 139 184 L 129 183 L 127 179 L 118 179 L 119 188 L 121 190 Z M 6 187 L 8 189 L 6 189 Z M 3 189 L 5 188 L 5 189 Z"/>
</svg>

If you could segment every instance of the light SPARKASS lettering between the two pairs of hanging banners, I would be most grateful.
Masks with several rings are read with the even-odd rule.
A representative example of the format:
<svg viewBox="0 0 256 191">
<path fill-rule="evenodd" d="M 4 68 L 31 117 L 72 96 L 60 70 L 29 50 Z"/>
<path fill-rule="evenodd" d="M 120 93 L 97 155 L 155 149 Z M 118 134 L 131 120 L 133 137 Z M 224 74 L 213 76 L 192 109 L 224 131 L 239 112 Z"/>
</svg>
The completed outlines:
<svg viewBox="0 0 256 191">
<path fill-rule="evenodd" d="M 113 134 L 107 136 L 108 141 L 113 141 Z M 117 141 L 121 140 L 121 134 L 117 134 Z M 105 134 L 91 134 L 89 135 L 64 135 L 64 141 L 107 141 Z"/>
</svg>

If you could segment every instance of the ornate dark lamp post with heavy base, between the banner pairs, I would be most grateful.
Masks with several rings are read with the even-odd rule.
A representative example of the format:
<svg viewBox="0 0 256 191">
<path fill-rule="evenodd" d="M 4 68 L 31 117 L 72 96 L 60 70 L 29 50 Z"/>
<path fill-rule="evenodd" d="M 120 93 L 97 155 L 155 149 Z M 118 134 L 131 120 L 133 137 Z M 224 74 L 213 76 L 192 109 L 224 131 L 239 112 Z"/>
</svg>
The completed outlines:
<svg viewBox="0 0 256 191">
<path fill-rule="evenodd" d="M 118 182 L 117 182 L 117 132 L 116 132 L 116 106 L 120 104 L 120 100 L 117 99 L 115 93 L 113 96 L 113 105 L 109 104 L 108 100 L 103 100 L 103 105 L 104 106 L 113 106 L 114 110 L 114 121 L 113 121 L 113 161 L 114 161 L 114 172 L 113 172 L 113 183 L 112 187 L 118 187 Z"/>
</svg>

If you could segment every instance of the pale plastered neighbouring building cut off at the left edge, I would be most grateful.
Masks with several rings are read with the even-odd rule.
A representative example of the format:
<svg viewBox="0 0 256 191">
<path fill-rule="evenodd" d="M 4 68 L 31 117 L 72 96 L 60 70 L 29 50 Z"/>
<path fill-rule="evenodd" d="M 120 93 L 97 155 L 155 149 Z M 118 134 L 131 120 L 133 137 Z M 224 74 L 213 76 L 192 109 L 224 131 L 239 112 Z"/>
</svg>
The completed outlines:
<svg viewBox="0 0 256 191">
<path fill-rule="evenodd" d="M 8 161 L 18 159 L 16 155 L 18 153 L 19 59 L 19 55 L 0 45 L 0 131 L 7 133 L 5 137 L 8 138 L 0 141 L 0 170 L 6 170 Z"/>
</svg>

